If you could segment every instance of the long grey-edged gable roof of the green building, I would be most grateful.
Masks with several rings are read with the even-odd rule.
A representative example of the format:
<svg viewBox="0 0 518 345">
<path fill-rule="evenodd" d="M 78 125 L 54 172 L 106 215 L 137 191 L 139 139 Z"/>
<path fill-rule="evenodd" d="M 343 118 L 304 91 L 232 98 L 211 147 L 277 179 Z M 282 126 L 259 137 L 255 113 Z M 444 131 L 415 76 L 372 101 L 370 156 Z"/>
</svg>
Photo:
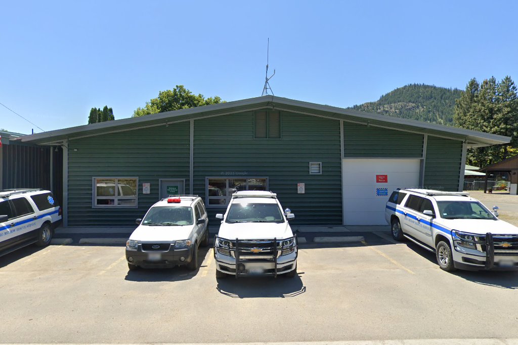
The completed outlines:
<svg viewBox="0 0 518 345">
<path fill-rule="evenodd" d="M 236 100 L 234 102 L 213 104 L 203 107 L 167 111 L 145 115 L 138 118 L 128 118 L 101 123 L 64 128 L 44 133 L 37 133 L 21 137 L 18 140 L 52 145 L 63 140 L 85 136 L 103 135 L 113 132 L 131 131 L 136 128 L 152 127 L 175 122 L 201 119 L 205 117 L 221 116 L 230 113 L 252 111 L 257 109 L 277 109 L 294 113 L 320 116 L 336 120 L 344 120 L 365 125 L 380 126 L 394 130 L 418 132 L 423 134 L 444 136 L 452 139 L 465 140 L 468 147 L 490 146 L 507 143 L 510 137 L 488 134 L 463 128 L 450 127 L 435 123 L 400 119 L 376 113 L 368 113 L 351 109 L 332 107 L 321 104 L 302 102 L 277 96 L 262 96 Z"/>
</svg>

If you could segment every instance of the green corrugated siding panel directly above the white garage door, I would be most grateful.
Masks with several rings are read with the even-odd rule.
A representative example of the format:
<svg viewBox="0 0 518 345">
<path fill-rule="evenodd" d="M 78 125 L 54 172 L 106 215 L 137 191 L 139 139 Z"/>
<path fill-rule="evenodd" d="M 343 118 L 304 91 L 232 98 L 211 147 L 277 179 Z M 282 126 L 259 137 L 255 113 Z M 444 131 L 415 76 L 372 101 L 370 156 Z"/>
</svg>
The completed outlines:
<svg viewBox="0 0 518 345">
<path fill-rule="evenodd" d="M 423 140 L 422 134 L 343 123 L 344 157 L 421 158 Z"/>
</svg>

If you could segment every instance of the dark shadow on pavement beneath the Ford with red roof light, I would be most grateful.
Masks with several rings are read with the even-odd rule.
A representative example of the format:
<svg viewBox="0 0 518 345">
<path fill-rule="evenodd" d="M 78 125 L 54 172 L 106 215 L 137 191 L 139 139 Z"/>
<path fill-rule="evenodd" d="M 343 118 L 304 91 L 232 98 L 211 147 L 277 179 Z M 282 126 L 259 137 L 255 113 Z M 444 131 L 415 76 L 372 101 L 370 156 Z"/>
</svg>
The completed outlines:
<svg viewBox="0 0 518 345">
<path fill-rule="evenodd" d="M 158 282 L 158 281 L 182 281 L 195 277 L 202 266 L 203 258 L 207 255 L 210 247 L 199 247 L 198 249 L 198 268 L 195 271 L 187 269 L 185 266 L 175 266 L 173 268 L 139 268 L 134 271 L 128 269 L 124 280 L 135 282 Z"/>
</svg>

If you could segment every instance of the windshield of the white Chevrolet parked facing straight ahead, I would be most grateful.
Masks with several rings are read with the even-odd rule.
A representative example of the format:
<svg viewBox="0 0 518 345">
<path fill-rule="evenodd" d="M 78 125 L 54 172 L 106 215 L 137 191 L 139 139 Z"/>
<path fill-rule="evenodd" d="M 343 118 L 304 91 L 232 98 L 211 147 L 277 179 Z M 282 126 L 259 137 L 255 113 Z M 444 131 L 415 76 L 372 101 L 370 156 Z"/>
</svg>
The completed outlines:
<svg viewBox="0 0 518 345">
<path fill-rule="evenodd" d="M 228 210 L 227 223 L 284 223 L 277 204 L 232 204 Z"/>
</svg>

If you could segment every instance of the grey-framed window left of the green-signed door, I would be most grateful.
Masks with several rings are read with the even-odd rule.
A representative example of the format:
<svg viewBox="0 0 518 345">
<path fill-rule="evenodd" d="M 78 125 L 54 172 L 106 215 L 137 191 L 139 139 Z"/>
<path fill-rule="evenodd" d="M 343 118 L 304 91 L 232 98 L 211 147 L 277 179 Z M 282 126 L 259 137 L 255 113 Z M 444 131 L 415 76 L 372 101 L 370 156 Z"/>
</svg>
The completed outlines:
<svg viewBox="0 0 518 345">
<path fill-rule="evenodd" d="M 93 178 L 93 207 L 134 208 L 137 205 L 137 178 Z"/>
</svg>

